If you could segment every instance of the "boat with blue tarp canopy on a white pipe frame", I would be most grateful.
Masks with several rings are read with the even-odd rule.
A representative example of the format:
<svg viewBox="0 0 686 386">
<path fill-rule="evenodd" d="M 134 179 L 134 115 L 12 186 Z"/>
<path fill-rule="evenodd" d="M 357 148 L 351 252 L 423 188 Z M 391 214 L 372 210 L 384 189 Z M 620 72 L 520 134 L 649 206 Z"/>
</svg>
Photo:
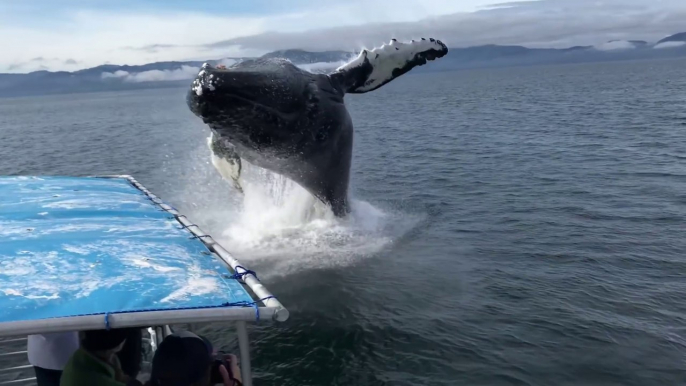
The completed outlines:
<svg viewBox="0 0 686 386">
<path fill-rule="evenodd" d="M 132 176 L 0 177 L 0 385 L 34 382 L 27 335 L 140 327 L 154 352 L 175 328 L 228 323 L 251 386 L 247 323 L 288 317 L 254 271 Z"/>
</svg>

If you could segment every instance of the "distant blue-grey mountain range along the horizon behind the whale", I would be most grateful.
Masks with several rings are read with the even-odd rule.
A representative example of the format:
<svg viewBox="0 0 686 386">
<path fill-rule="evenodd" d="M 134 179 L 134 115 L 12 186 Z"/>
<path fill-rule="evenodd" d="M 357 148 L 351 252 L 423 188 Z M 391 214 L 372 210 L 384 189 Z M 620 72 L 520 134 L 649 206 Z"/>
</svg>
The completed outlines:
<svg viewBox="0 0 686 386">
<path fill-rule="evenodd" d="M 345 51 L 309 52 L 293 49 L 271 52 L 263 57 L 286 58 L 308 71 L 330 72 L 355 55 Z M 499 45 L 451 48 L 441 60 L 413 72 L 677 57 L 686 57 L 686 32 L 666 37 L 655 44 L 640 40 L 613 40 L 597 46 L 565 49 Z M 231 65 L 245 59 L 249 58 L 224 58 L 207 62 Z M 193 79 L 202 63 L 158 62 L 141 66 L 108 64 L 74 72 L 0 74 L 0 97 L 179 87 Z"/>
</svg>

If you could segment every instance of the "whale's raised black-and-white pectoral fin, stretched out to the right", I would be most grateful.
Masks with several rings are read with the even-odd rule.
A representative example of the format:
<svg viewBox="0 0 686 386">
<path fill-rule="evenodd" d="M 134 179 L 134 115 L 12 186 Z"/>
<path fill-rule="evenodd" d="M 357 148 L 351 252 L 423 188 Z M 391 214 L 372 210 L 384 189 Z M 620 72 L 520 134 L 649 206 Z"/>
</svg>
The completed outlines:
<svg viewBox="0 0 686 386">
<path fill-rule="evenodd" d="M 330 76 L 344 92 L 360 94 L 376 90 L 414 67 L 426 64 L 427 60 L 447 53 L 448 47 L 440 40 L 422 38 L 401 43 L 393 39 L 373 50 L 363 50 Z"/>
</svg>

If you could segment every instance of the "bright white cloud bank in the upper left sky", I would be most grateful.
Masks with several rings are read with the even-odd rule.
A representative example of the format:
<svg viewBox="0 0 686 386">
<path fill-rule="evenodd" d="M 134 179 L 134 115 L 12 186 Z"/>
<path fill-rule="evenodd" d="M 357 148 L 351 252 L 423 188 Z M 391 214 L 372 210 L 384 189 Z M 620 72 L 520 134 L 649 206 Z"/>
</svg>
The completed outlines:
<svg viewBox="0 0 686 386">
<path fill-rule="evenodd" d="M 78 11 L 54 22 L 65 25 L 44 28 L 4 23 L 0 12 L 0 72 L 12 63 L 25 63 L 41 56 L 68 57 L 79 68 L 98 66 L 106 61 L 116 64 L 145 64 L 156 61 L 205 60 L 248 53 L 247 50 L 221 47 L 208 49 L 212 37 L 254 34 L 266 29 L 266 19 L 224 17 L 197 13 L 131 14 Z M 217 31 L 221 31 L 219 34 Z M 49 36 L 49 39 L 47 37 Z M 147 52 L 158 45 L 158 52 Z M 122 47 L 147 47 L 146 50 Z M 162 48 L 166 47 L 166 48 Z M 53 70 L 73 70 L 62 63 L 51 63 Z M 15 68 L 16 70 L 16 68 Z M 22 69 L 23 70 L 23 69 Z"/>
</svg>

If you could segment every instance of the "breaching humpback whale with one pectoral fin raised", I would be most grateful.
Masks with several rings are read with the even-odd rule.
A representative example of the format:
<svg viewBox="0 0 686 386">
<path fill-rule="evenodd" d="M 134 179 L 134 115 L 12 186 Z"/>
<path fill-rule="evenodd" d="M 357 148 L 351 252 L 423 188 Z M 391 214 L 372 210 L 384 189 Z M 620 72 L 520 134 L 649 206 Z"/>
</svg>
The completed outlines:
<svg viewBox="0 0 686 386">
<path fill-rule="evenodd" d="M 345 94 L 376 90 L 447 53 L 440 40 L 393 39 L 362 50 L 330 74 L 313 74 L 285 59 L 230 68 L 204 64 L 186 101 L 211 130 L 213 165 L 238 189 L 248 162 L 296 182 L 342 217 L 349 212 L 353 146 Z"/>
</svg>

